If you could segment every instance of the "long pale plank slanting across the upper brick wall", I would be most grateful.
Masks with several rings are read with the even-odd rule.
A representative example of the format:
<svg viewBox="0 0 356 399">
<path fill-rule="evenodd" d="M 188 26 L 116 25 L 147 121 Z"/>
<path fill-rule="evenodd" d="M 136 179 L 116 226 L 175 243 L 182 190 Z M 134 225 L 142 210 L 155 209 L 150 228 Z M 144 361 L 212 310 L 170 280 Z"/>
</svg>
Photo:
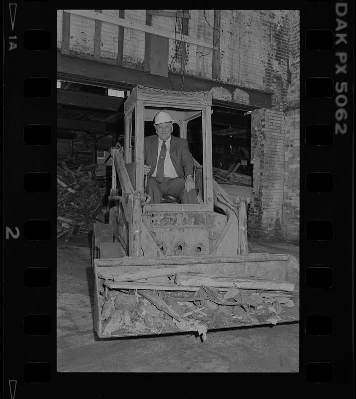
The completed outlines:
<svg viewBox="0 0 356 399">
<path fill-rule="evenodd" d="M 84 16 L 86 18 L 91 18 L 91 19 L 98 19 L 100 21 L 112 23 L 114 25 L 124 26 L 124 27 L 130 28 L 130 29 L 139 30 L 141 32 L 157 34 L 158 36 L 169 37 L 170 39 L 174 39 L 174 32 L 171 32 L 169 30 L 162 29 L 160 27 L 156 28 L 156 27 L 152 27 L 152 26 L 142 25 L 141 23 L 138 23 L 138 22 L 128 21 L 123 18 L 116 18 L 111 15 L 103 15 L 103 14 L 100 14 L 99 12 L 95 12 L 95 11 L 65 9 L 65 10 L 63 10 L 63 14 L 64 13 L 70 13 L 73 15 Z M 207 47 L 207 48 L 213 47 L 213 43 L 207 43 L 203 40 L 199 40 L 199 39 L 196 39 L 195 37 L 191 37 L 188 35 L 183 35 L 183 37 L 184 37 L 184 40 L 188 43 L 196 44 L 198 46 Z"/>
</svg>

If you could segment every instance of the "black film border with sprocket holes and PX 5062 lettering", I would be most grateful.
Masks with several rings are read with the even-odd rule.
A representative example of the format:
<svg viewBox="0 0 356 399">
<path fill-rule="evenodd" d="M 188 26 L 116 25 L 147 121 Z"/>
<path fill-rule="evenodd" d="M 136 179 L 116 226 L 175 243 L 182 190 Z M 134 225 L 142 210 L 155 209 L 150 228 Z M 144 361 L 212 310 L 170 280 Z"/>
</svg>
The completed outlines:
<svg viewBox="0 0 356 399">
<path fill-rule="evenodd" d="M 172 383 L 174 390 L 178 388 L 173 374 L 164 379 L 157 373 L 143 375 L 138 383 L 136 373 L 101 373 L 100 362 L 106 362 L 108 354 L 100 349 L 92 355 L 98 359 L 96 373 L 79 373 L 83 370 L 78 366 L 80 352 L 73 355 L 78 356 L 77 369 L 57 371 L 57 59 L 58 54 L 75 57 L 75 48 L 69 48 L 71 14 L 61 14 L 59 29 L 57 10 L 85 11 L 99 6 L 113 10 L 119 5 L 108 1 L 3 2 L 6 398 L 104 398 L 127 390 L 134 397 L 151 397 L 164 392 L 162 387 L 169 388 L 166 395 L 171 395 Z M 299 371 L 244 373 L 243 379 L 237 376 L 238 385 L 220 374 L 215 382 L 212 375 L 209 382 L 192 380 L 189 390 L 185 374 L 179 377 L 184 384 L 178 396 L 192 397 L 215 388 L 220 395 L 246 390 L 254 397 L 348 398 L 353 392 L 354 2 L 250 1 L 248 8 L 300 11 Z M 118 11 L 123 18 L 124 10 Z M 184 12 L 181 16 L 184 19 Z M 93 22 L 94 36 L 102 26 L 98 20 Z M 120 29 L 124 27 L 119 26 L 118 32 Z M 99 50 L 87 57 L 89 72 L 100 62 L 98 45 Z M 115 45 L 119 47 L 120 42 Z M 117 60 L 122 62 L 119 54 Z M 86 83 L 97 85 L 89 72 Z M 72 74 L 81 75 L 84 82 L 83 73 Z M 88 327 L 89 333 L 95 335 L 93 328 Z M 140 348 L 143 341 L 138 341 Z M 100 343 L 95 344 L 99 348 Z M 119 353 L 115 361 L 121 361 Z"/>
</svg>

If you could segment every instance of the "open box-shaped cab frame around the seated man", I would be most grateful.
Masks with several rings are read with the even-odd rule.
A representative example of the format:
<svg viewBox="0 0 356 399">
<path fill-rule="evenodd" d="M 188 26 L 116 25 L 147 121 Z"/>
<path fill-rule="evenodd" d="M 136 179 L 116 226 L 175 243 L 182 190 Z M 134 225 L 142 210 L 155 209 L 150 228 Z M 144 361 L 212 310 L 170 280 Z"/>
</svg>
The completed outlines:
<svg viewBox="0 0 356 399">
<path fill-rule="evenodd" d="M 209 92 L 174 92 L 137 86 L 125 102 L 124 160 L 134 191 L 144 193 L 145 122 L 152 123 L 161 110 L 169 112 L 179 127 L 179 137 L 188 139 L 189 122 L 201 117 L 202 165 L 196 163 L 196 184 L 199 182 L 198 204 L 155 203 L 146 211 L 209 211 L 214 210 L 212 182 L 211 105 Z M 177 126 L 173 135 L 177 131 Z M 156 133 L 154 133 L 156 134 Z M 188 141 L 189 143 L 189 141 Z M 193 154 L 194 156 L 194 154 Z"/>
</svg>

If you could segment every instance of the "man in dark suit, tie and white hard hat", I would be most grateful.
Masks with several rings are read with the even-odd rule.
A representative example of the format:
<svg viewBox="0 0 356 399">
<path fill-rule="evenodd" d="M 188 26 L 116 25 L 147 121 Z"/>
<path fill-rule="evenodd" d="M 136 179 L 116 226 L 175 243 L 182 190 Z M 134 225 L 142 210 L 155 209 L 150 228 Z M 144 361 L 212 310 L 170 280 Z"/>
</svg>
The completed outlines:
<svg viewBox="0 0 356 399">
<path fill-rule="evenodd" d="M 150 203 L 163 195 L 179 198 L 181 203 L 198 203 L 193 180 L 194 161 L 185 139 L 172 136 L 172 116 L 160 111 L 154 117 L 157 135 L 145 138 L 144 174 Z"/>
</svg>

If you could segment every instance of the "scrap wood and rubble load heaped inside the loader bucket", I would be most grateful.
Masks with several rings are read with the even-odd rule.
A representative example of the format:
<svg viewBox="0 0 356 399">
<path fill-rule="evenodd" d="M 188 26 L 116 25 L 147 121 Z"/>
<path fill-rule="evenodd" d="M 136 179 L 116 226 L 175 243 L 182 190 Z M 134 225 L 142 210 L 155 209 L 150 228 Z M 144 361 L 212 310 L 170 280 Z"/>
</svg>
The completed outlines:
<svg viewBox="0 0 356 399">
<path fill-rule="evenodd" d="M 188 266 L 98 277 L 103 335 L 196 331 L 205 340 L 208 329 L 298 320 L 299 295 L 285 281 L 192 273 Z"/>
</svg>

